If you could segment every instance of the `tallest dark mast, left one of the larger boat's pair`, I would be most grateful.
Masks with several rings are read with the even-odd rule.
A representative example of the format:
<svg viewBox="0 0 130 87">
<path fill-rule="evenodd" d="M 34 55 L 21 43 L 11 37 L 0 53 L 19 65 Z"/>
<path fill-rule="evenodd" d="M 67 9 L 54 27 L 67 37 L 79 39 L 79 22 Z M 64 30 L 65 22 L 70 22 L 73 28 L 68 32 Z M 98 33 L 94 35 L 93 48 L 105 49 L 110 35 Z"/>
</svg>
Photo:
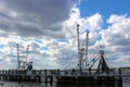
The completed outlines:
<svg viewBox="0 0 130 87">
<path fill-rule="evenodd" d="M 78 42 L 78 65 L 79 65 L 79 70 L 81 72 L 82 66 L 81 66 L 81 57 L 80 57 L 80 42 L 79 42 L 79 25 L 77 25 L 77 42 Z"/>
</svg>

